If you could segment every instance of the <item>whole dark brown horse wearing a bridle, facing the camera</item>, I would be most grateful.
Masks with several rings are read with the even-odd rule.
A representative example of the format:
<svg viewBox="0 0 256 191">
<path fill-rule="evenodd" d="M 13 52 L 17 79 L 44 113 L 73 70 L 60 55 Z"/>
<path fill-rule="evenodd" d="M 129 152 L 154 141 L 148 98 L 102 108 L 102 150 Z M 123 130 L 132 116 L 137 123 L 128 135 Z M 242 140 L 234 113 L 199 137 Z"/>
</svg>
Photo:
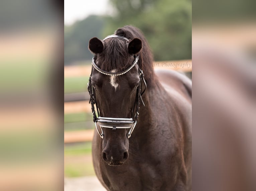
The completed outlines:
<svg viewBox="0 0 256 191">
<path fill-rule="evenodd" d="M 90 39 L 96 176 L 108 191 L 191 190 L 191 80 L 153 68 L 142 32 Z"/>
</svg>

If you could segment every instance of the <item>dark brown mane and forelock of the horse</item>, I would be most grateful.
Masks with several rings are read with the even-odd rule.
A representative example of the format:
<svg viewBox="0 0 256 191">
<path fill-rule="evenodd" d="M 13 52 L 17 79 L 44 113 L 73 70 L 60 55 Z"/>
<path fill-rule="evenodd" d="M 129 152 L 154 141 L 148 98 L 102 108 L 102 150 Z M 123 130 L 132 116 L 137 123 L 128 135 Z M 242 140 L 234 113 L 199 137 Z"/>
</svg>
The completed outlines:
<svg viewBox="0 0 256 191">
<path fill-rule="evenodd" d="M 133 26 L 124 26 L 115 31 L 115 35 L 126 37 L 129 40 L 134 38 L 139 38 L 142 41 L 142 50 L 139 52 L 139 67 L 143 70 L 144 78 L 148 86 L 153 85 L 155 82 L 155 75 L 153 69 L 153 56 L 148 45 L 147 40 L 145 39 L 142 32 Z M 118 38 L 110 38 L 106 40 L 104 47 L 104 66 L 101 68 L 106 71 L 116 69 L 117 71 L 122 71 L 126 69 L 132 63 L 122 63 L 120 60 L 127 58 L 129 59 L 131 55 L 128 53 L 127 46 L 128 44 Z"/>
</svg>

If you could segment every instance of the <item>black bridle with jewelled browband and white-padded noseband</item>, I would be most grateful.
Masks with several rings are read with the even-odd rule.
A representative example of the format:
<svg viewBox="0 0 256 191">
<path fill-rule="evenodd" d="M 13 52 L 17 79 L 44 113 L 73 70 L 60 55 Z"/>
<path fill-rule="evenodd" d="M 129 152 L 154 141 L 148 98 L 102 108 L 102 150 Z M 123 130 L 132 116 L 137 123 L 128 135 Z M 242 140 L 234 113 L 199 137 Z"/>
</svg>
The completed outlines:
<svg viewBox="0 0 256 191">
<path fill-rule="evenodd" d="M 107 36 L 105 39 L 103 39 L 103 41 L 108 39 L 108 38 L 119 38 L 119 39 L 123 39 L 125 41 L 129 41 L 129 39 L 127 39 L 123 36 L 118 36 L 118 35 Z M 99 133 L 101 138 L 104 137 L 104 131 L 103 131 L 102 127 L 112 128 L 112 130 L 122 129 L 122 128 L 130 128 L 128 133 L 127 133 L 127 137 L 128 138 L 131 137 L 131 134 L 132 134 L 132 132 L 133 132 L 133 130 L 134 130 L 136 124 L 137 124 L 137 121 L 138 121 L 139 109 L 140 109 L 140 100 L 142 101 L 143 105 L 145 106 L 141 96 L 143 95 L 143 93 L 145 92 L 145 90 L 147 88 L 147 85 L 146 85 L 146 82 L 145 82 L 145 79 L 144 79 L 143 71 L 139 68 L 139 65 L 138 65 L 138 60 L 139 60 L 139 57 L 137 55 L 137 56 L 135 56 L 135 60 L 129 68 L 127 68 L 126 70 L 124 70 L 122 72 L 114 73 L 114 72 L 107 72 L 107 71 L 101 70 L 95 64 L 95 58 L 93 57 L 93 59 L 92 59 L 92 72 L 91 72 L 91 75 L 90 75 L 90 78 L 89 78 L 89 83 L 88 83 L 88 92 L 90 94 L 89 103 L 91 103 L 91 105 L 92 105 L 93 122 L 95 123 L 96 130 Z M 137 87 L 136 98 L 135 98 L 134 106 L 132 108 L 131 118 L 101 117 L 100 112 L 99 112 L 99 108 L 98 108 L 98 105 L 97 105 L 97 101 L 96 101 L 95 89 L 92 86 L 92 82 L 91 82 L 93 68 L 95 68 L 98 72 L 100 72 L 104 75 L 121 76 L 121 75 L 126 74 L 127 72 L 129 72 L 136 64 L 138 65 L 138 73 L 139 73 L 140 82 L 139 82 L 139 86 Z M 144 83 L 144 86 L 145 86 L 145 89 L 143 90 L 143 92 L 141 92 L 142 83 Z M 97 115 L 96 115 L 94 105 L 96 105 L 96 111 L 97 111 L 97 114 L 98 114 L 99 117 L 97 117 Z M 135 108 L 135 106 L 136 106 L 136 108 Z M 101 128 L 101 132 L 99 131 L 97 123 L 99 124 L 99 126 Z"/>
</svg>

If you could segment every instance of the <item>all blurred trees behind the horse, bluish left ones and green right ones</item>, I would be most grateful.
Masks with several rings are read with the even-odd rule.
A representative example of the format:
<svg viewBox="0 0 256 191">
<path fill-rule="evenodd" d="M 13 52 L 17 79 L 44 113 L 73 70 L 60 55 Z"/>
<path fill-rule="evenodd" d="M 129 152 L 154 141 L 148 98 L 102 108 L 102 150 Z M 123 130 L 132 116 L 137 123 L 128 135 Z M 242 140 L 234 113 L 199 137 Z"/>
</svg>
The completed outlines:
<svg viewBox="0 0 256 191">
<path fill-rule="evenodd" d="M 110 0 L 114 16 L 89 16 L 65 26 L 65 64 L 91 60 L 88 42 L 104 38 L 124 25 L 146 36 L 154 59 L 191 59 L 191 0 Z"/>
</svg>

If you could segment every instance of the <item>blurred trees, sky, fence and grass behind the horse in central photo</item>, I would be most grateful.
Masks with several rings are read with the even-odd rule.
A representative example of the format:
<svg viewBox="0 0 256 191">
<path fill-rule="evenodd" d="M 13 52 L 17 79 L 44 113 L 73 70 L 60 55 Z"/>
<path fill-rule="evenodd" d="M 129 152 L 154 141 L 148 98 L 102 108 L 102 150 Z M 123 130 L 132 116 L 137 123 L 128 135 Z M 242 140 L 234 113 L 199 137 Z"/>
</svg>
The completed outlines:
<svg viewBox="0 0 256 191">
<path fill-rule="evenodd" d="M 191 78 L 190 0 L 65 1 L 65 177 L 95 175 L 91 158 L 95 125 L 87 92 L 94 55 L 88 50 L 89 40 L 103 39 L 125 25 L 144 33 L 155 63 L 190 64 L 159 68 L 179 70 Z"/>
</svg>

